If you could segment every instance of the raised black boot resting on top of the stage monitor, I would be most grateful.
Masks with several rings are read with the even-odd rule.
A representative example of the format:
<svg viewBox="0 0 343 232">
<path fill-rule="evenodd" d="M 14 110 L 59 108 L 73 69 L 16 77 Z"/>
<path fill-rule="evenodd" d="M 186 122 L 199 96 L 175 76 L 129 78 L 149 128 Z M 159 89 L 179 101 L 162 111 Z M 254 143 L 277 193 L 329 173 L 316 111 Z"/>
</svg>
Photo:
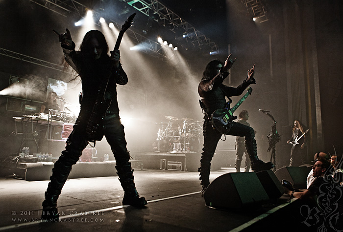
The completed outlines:
<svg viewBox="0 0 343 232">
<path fill-rule="evenodd" d="M 258 172 L 258 171 L 269 170 L 269 169 L 274 168 L 273 163 L 271 162 L 265 163 L 258 158 L 257 145 L 256 145 L 254 136 L 255 136 L 255 133 L 252 128 L 251 128 L 249 136 L 245 136 L 245 147 L 251 161 L 251 169 L 254 172 Z"/>
</svg>

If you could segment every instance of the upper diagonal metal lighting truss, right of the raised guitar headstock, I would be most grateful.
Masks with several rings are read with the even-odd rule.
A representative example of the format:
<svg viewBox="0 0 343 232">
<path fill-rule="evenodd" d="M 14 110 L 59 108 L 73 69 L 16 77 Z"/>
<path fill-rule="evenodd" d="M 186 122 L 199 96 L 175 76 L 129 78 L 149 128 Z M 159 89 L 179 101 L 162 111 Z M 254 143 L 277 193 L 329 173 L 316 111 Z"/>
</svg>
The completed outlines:
<svg viewBox="0 0 343 232">
<path fill-rule="evenodd" d="M 197 45 L 198 47 L 202 47 L 204 45 L 207 45 L 210 47 L 213 51 L 218 51 L 218 45 L 211 41 L 210 38 L 206 37 L 204 34 L 202 34 L 199 30 L 194 28 L 190 23 L 186 22 L 185 20 L 181 19 L 177 14 L 172 12 L 170 9 L 168 9 L 165 5 L 161 4 L 158 0 L 123 0 L 133 8 L 139 10 L 143 14 L 149 15 L 151 14 L 157 14 L 159 19 L 154 19 L 155 21 L 158 21 L 162 23 L 162 25 L 170 26 L 170 30 L 173 33 L 175 32 L 175 29 L 183 29 L 183 31 L 187 34 L 192 34 L 193 41 L 192 43 L 194 45 Z M 152 12 L 150 12 L 152 11 Z"/>
</svg>

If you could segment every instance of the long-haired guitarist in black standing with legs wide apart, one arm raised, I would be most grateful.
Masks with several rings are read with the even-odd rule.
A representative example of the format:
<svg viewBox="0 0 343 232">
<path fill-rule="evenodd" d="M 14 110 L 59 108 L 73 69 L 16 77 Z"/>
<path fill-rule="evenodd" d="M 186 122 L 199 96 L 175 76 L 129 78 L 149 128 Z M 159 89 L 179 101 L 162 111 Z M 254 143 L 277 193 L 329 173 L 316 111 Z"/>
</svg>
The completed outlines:
<svg viewBox="0 0 343 232">
<path fill-rule="evenodd" d="M 124 127 L 119 117 L 117 102 L 117 84 L 126 84 L 127 76 L 120 63 L 119 50 L 111 51 L 107 55 L 108 45 L 104 35 L 98 30 L 86 33 L 79 51 L 75 51 L 75 43 L 72 41 L 68 29 L 66 33 L 59 35 L 64 52 L 65 61 L 73 67 L 81 78 L 83 99 L 79 116 L 73 126 L 73 131 L 66 142 L 66 149 L 54 164 L 48 189 L 45 192 L 43 202 L 43 219 L 58 218 L 57 199 L 62 187 L 66 182 L 72 166 L 76 164 L 82 154 L 82 150 L 88 145 L 86 127 L 90 114 L 95 104 L 98 86 L 101 82 L 110 79 L 104 94 L 105 99 L 111 99 L 111 105 L 105 115 L 105 132 L 107 142 L 111 146 L 116 159 L 116 169 L 119 180 L 124 190 L 123 204 L 135 207 L 143 207 L 147 204 L 144 197 L 139 197 L 133 181 L 133 170 L 129 162 L 130 155 L 126 149 Z M 112 73 L 109 65 L 113 65 Z"/>
</svg>

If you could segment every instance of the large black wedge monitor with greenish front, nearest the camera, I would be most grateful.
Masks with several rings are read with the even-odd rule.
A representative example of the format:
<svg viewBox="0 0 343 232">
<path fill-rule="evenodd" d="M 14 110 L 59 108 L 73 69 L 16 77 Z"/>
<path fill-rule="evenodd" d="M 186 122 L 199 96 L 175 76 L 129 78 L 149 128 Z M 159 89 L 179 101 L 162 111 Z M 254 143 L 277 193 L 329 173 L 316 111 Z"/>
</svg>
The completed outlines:
<svg viewBox="0 0 343 232">
<path fill-rule="evenodd" d="M 233 172 L 213 180 L 204 199 L 208 207 L 241 209 L 258 207 L 269 197 L 255 172 Z"/>
</svg>

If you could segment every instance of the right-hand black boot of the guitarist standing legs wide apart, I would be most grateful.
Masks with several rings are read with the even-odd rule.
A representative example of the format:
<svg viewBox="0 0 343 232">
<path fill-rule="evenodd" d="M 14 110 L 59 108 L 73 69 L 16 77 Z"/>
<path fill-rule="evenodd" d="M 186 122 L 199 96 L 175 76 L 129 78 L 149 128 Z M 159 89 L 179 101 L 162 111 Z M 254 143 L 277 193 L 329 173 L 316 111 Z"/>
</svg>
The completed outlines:
<svg viewBox="0 0 343 232">
<path fill-rule="evenodd" d="M 144 197 L 139 197 L 133 182 L 133 169 L 130 162 L 117 163 L 116 169 L 119 176 L 119 181 L 124 190 L 123 205 L 130 205 L 142 208 L 147 205 L 147 200 Z"/>
</svg>

